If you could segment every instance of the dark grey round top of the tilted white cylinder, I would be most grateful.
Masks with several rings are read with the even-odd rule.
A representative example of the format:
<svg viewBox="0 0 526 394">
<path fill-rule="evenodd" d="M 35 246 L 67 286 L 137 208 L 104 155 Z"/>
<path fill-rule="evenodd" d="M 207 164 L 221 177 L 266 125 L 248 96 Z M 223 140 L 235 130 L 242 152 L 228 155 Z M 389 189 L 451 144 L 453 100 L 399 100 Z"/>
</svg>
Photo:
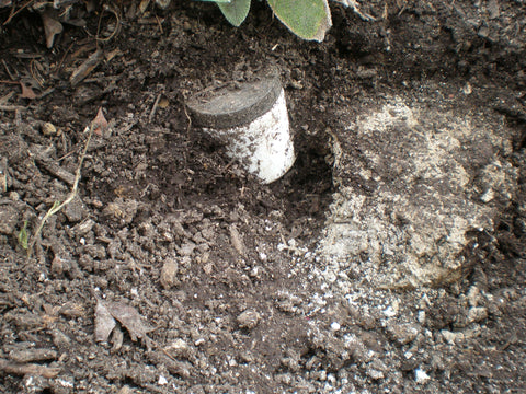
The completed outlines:
<svg viewBox="0 0 526 394">
<path fill-rule="evenodd" d="M 238 89 L 205 89 L 193 95 L 186 106 L 197 125 L 225 129 L 250 124 L 268 112 L 281 91 L 279 76 L 274 73 Z"/>
</svg>

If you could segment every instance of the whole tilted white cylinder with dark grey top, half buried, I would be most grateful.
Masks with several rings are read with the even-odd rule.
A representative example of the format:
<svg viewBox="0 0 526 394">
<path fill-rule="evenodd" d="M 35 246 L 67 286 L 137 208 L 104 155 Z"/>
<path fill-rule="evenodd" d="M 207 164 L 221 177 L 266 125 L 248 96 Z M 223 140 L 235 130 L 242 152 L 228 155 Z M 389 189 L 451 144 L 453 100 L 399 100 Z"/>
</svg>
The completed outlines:
<svg viewBox="0 0 526 394">
<path fill-rule="evenodd" d="M 205 90 L 187 107 L 203 130 L 224 142 L 227 154 L 263 183 L 278 179 L 293 166 L 285 92 L 277 76 L 236 89 Z"/>
</svg>

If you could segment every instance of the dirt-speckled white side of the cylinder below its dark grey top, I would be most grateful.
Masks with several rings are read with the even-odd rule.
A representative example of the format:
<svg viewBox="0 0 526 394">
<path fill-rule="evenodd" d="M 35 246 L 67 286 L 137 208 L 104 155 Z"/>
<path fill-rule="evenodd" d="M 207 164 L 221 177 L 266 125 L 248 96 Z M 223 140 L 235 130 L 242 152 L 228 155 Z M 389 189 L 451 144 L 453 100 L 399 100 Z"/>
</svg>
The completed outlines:
<svg viewBox="0 0 526 394">
<path fill-rule="evenodd" d="M 237 159 L 249 173 L 263 183 L 278 179 L 294 164 L 294 144 L 283 89 L 271 109 L 251 123 L 228 129 L 204 130 L 226 141 L 227 154 Z"/>
</svg>

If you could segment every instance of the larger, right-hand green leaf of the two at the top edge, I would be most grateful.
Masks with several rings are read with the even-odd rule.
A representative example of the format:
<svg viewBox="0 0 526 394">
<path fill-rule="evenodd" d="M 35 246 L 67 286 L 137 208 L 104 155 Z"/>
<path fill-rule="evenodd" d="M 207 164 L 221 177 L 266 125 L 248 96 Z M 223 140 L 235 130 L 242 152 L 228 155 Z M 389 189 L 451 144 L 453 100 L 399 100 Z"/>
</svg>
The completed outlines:
<svg viewBox="0 0 526 394">
<path fill-rule="evenodd" d="M 272 11 L 297 36 L 322 42 L 332 26 L 328 0 L 267 0 Z"/>
</svg>

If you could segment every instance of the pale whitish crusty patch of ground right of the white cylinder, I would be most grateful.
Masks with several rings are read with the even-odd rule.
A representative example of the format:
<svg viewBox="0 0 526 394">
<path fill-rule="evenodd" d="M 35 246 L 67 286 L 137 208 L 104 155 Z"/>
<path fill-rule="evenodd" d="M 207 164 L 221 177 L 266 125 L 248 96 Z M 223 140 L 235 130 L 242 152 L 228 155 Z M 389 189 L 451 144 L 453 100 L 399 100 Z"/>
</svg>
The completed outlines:
<svg viewBox="0 0 526 394">
<path fill-rule="evenodd" d="M 504 129 L 389 100 L 336 132 L 339 185 L 318 250 L 321 275 L 386 288 L 459 278 L 469 231 L 491 231 L 493 200 L 508 204 L 516 173 Z M 345 118 L 342 115 L 342 118 Z"/>
</svg>

